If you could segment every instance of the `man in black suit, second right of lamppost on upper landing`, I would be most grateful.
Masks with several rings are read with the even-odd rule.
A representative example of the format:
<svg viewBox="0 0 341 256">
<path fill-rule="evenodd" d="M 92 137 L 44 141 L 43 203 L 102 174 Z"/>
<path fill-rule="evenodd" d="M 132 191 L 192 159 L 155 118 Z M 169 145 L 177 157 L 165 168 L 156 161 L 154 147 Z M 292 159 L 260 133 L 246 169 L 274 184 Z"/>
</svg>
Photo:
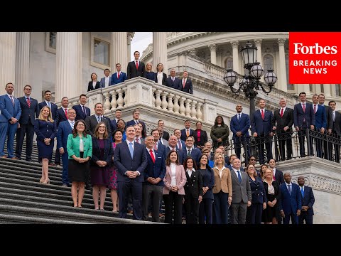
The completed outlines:
<svg viewBox="0 0 341 256">
<path fill-rule="evenodd" d="M 275 110 L 274 116 L 271 119 L 271 127 L 276 131 L 279 144 L 279 154 L 281 161 L 291 159 L 293 154 L 293 146 L 291 135 L 293 134 L 293 109 L 286 107 L 286 98 L 279 100 L 281 108 Z"/>
</svg>

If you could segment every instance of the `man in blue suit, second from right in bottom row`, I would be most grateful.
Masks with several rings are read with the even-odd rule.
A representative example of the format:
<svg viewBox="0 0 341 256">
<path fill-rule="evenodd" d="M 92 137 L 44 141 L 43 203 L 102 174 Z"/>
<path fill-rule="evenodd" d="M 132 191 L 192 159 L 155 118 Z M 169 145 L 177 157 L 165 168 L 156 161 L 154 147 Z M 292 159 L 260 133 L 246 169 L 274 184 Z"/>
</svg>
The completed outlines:
<svg viewBox="0 0 341 256">
<path fill-rule="evenodd" d="M 291 182 L 291 174 L 288 172 L 284 174 L 284 181 L 286 182 L 279 186 L 281 198 L 278 202 L 283 224 L 289 224 L 290 218 L 291 223 L 298 224 L 298 216 L 301 214 L 302 208 L 300 188 Z"/>
</svg>

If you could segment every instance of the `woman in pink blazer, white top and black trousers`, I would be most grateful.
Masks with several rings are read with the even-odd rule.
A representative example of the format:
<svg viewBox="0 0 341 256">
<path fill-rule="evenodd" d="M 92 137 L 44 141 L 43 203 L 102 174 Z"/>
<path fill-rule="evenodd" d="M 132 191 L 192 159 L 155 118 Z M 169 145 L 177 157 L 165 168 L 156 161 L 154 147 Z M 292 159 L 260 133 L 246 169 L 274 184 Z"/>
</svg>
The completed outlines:
<svg viewBox="0 0 341 256">
<path fill-rule="evenodd" d="M 170 151 L 166 159 L 166 175 L 163 178 L 163 201 L 165 202 L 165 223 L 172 224 L 174 206 L 174 224 L 181 224 L 183 197 L 185 196 L 186 174 L 179 163 L 177 151 Z"/>
</svg>

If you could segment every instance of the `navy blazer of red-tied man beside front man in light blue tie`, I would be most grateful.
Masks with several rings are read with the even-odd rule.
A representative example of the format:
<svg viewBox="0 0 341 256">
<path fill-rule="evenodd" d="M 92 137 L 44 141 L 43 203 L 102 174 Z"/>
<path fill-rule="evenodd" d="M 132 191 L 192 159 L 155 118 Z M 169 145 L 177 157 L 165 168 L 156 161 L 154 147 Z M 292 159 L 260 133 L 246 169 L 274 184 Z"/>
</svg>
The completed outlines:
<svg viewBox="0 0 341 256">
<path fill-rule="evenodd" d="M 166 175 L 166 160 L 163 154 L 159 153 L 156 150 L 154 150 L 154 152 L 155 164 L 151 159 L 151 153 L 149 152 L 149 149 L 146 148 L 147 166 L 146 170 L 144 171 L 144 181 L 146 181 L 146 183 L 148 184 L 147 178 L 149 177 L 161 178 L 160 182 L 153 185 L 165 186 L 165 183 L 163 183 L 163 178 L 165 178 Z"/>
</svg>

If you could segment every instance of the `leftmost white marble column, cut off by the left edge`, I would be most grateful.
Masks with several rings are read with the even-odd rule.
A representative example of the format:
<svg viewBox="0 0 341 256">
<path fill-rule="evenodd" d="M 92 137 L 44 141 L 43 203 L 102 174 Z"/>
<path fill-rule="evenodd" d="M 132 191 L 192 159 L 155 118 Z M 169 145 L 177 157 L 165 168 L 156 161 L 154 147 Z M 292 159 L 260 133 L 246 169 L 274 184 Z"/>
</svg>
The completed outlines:
<svg viewBox="0 0 341 256">
<path fill-rule="evenodd" d="M 6 83 L 13 82 L 16 93 L 16 32 L 0 32 L 0 87 L 6 93 Z"/>
</svg>

